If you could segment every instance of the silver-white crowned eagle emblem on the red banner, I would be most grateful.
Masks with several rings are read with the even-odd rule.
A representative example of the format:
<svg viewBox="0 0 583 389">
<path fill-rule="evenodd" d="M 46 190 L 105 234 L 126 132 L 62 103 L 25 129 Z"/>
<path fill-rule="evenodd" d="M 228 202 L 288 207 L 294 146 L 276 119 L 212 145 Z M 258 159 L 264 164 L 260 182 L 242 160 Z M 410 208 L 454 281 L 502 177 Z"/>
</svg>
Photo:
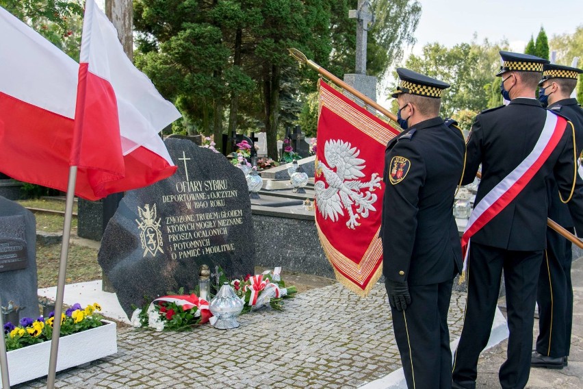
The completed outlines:
<svg viewBox="0 0 583 389">
<path fill-rule="evenodd" d="M 359 178 L 364 177 L 361 170 L 365 168 L 365 160 L 357 158 L 360 153 L 360 150 L 351 147 L 349 142 L 326 140 L 324 157 L 329 166 L 318 160 L 315 162 L 316 177 L 324 173 L 325 179 L 317 181 L 314 185 L 315 201 L 320 214 L 324 218 L 329 217 L 332 221 L 337 221 L 339 215 L 344 216 L 343 208 L 346 208 L 350 216 L 346 226 L 351 229 L 360 225 L 357 222 L 358 218 L 361 216 L 367 218 L 370 211 L 376 211 L 373 206 L 376 194 L 371 192 L 380 188 L 381 181 L 377 173 L 373 173 L 368 182 L 359 181 Z M 363 188 L 368 190 L 362 193 Z M 356 212 L 352 207 L 356 208 Z"/>
</svg>

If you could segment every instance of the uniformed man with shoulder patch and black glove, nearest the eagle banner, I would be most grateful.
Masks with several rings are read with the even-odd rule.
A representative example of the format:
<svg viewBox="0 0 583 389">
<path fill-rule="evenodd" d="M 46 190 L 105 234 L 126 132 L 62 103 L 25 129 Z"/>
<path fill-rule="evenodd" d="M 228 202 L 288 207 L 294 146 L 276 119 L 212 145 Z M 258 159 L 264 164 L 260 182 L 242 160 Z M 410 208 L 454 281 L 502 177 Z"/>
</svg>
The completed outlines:
<svg viewBox="0 0 583 389">
<path fill-rule="evenodd" d="M 463 171 L 461 131 L 439 117 L 448 84 L 397 68 L 404 131 L 385 152 L 383 275 L 409 388 L 451 388 L 448 310 L 461 246 L 452 213 Z"/>
</svg>

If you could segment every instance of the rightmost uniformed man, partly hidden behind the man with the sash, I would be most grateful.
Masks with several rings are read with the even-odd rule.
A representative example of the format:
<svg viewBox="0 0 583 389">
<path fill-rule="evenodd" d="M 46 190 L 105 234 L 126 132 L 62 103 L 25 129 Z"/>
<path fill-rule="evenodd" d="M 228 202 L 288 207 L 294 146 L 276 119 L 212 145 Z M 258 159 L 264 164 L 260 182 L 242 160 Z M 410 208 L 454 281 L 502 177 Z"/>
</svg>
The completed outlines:
<svg viewBox="0 0 583 389">
<path fill-rule="evenodd" d="M 539 82 L 539 101 L 548 109 L 567 116 L 575 129 L 577 155 L 583 148 L 583 109 L 571 93 L 581 69 L 547 64 Z M 547 181 L 549 218 L 573 232 L 569 209 L 560 201 L 554 178 Z M 539 304 L 539 337 L 530 366 L 562 368 L 567 366 L 573 320 L 573 286 L 571 285 L 571 242 L 547 229 L 547 249 L 539 275 L 536 302 Z"/>
</svg>

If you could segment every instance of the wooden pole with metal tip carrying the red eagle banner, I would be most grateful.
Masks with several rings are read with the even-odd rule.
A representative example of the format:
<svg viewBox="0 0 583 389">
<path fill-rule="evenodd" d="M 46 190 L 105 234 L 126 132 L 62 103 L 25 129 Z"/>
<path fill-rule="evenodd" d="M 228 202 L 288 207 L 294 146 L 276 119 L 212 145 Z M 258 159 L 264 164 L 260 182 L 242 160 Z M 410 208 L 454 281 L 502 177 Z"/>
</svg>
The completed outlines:
<svg viewBox="0 0 583 389">
<path fill-rule="evenodd" d="M 316 64 L 312 60 L 308 60 L 306 55 L 304 53 L 302 53 L 301 51 L 299 51 L 298 49 L 292 48 L 292 49 L 288 49 L 288 50 L 289 50 L 289 55 L 292 55 L 292 57 L 296 58 L 296 60 L 298 60 L 298 62 L 300 62 L 300 64 L 307 64 L 308 66 L 313 68 L 315 71 L 317 71 L 318 73 L 320 73 L 321 75 L 323 75 L 324 77 L 326 77 L 327 79 L 332 81 L 337 86 L 340 86 L 341 88 L 348 90 L 348 92 L 352 93 L 352 95 L 358 97 L 359 99 L 361 99 L 362 101 L 364 101 L 365 103 L 370 105 L 372 108 L 378 110 L 378 112 L 380 112 L 381 114 L 387 116 L 387 118 L 390 118 L 392 121 L 397 121 L 397 116 L 395 116 L 395 114 L 389 112 L 386 108 L 383 108 L 382 105 L 379 105 L 378 103 L 376 103 L 376 101 L 373 101 L 369 97 L 363 95 L 358 90 L 352 88 L 352 86 L 346 84 L 346 82 L 342 81 L 341 79 L 339 79 L 338 77 L 336 77 L 335 75 L 333 75 L 332 73 L 327 71 L 326 69 L 322 68 L 322 66 Z M 482 175 L 480 174 L 480 172 L 478 172 L 478 174 L 476 174 L 476 177 L 482 178 Z M 571 234 L 571 232 L 567 231 L 567 229 L 564 229 L 563 227 L 558 225 L 552 219 L 547 218 L 547 226 L 550 229 L 553 229 L 554 231 L 556 231 L 558 234 L 562 235 L 563 238 L 575 243 L 575 245 L 577 247 L 579 247 L 580 249 L 583 249 L 583 242 L 579 238 L 577 238 L 576 236 Z"/>
</svg>

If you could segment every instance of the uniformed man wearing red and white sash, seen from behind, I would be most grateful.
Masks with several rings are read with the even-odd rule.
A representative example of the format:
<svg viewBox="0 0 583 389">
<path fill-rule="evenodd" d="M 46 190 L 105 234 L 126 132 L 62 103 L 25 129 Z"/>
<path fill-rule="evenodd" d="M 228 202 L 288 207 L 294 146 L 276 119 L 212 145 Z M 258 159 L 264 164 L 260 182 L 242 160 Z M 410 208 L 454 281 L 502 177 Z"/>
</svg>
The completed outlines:
<svg viewBox="0 0 583 389">
<path fill-rule="evenodd" d="M 508 359 L 500 367 L 502 388 L 524 388 L 530 373 L 534 303 L 547 221 L 545 179 L 554 174 L 575 228 L 583 231 L 583 181 L 576 175 L 573 129 L 535 97 L 547 60 L 500 51 L 510 103 L 483 111 L 467 142 L 462 184 L 482 164 L 474 211 L 462 238 L 468 293 L 461 339 L 454 356 L 454 388 L 475 388 L 477 363 L 494 318 L 504 269 L 508 310 Z M 575 182 L 575 178 L 577 181 Z"/>
</svg>

